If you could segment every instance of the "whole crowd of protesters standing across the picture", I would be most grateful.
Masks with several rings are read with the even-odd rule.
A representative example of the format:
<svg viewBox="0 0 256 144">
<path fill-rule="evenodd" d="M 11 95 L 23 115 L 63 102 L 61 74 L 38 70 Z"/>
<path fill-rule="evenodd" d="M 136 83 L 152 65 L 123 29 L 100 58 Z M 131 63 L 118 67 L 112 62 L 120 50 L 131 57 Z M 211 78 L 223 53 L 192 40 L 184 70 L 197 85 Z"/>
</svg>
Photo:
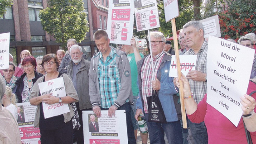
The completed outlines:
<svg viewBox="0 0 256 144">
<path fill-rule="evenodd" d="M 108 116 L 116 110 L 125 110 L 127 138 L 129 144 L 136 144 L 138 116 L 144 115 L 148 133 L 143 134 L 142 143 L 164 144 L 166 135 L 169 143 L 247 143 L 245 127 L 256 142 L 256 84 L 250 81 L 247 94 L 241 96 L 243 115 L 235 127 L 224 115 L 206 103 L 207 74 L 206 59 L 208 41 L 204 38 L 204 27 L 199 21 L 190 21 L 180 30 L 178 37 L 181 49 L 179 55 L 196 55 L 195 70 L 182 75 L 184 104 L 188 118 L 188 129 L 183 129 L 179 102 L 180 81 L 169 77 L 172 43 L 165 40 L 161 32 L 150 32 L 151 55 L 144 56 L 136 46 L 135 38 L 130 45 L 121 45 L 122 50 L 110 46 L 110 39 L 104 30 L 98 30 L 93 38 L 99 50 L 91 61 L 83 53 L 75 39 L 67 41 L 67 54 L 58 50 L 34 58 L 28 50 L 21 52 L 21 64 L 16 67 L 9 54 L 9 68 L 1 70 L 0 76 L 0 134 L 5 133 L 3 143 L 21 141 L 18 122 L 25 118 L 16 103 L 30 102 L 37 106 L 34 126 L 39 127 L 41 143 L 84 143 L 82 111 L 92 110 L 89 132 L 99 132 L 96 117 L 101 110 Z M 229 40 L 235 42 L 234 40 Z M 253 33 L 242 36 L 238 43 L 255 48 L 256 36 Z M 55 97 L 52 93 L 41 95 L 39 83 L 63 77 L 66 96 Z M 256 52 L 250 78 L 256 78 Z M 147 97 L 157 91 L 166 122 L 152 122 L 149 119 Z M 42 104 L 66 103 L 69 113 L 44 117 Z M 72 117 L 75 103 L 80 119 L 80 129 L 73 129 Z M 8 111 L 9 110 L 9 111 Z M 11 113 L 10 113 L 11 112 Z M 245 125 L 244 125 L 244 124 Z M 6 131 L 2 131 L 2 128 Z M 140 129 L 139 129 L 140 130 Z M 17 134 L 17 135 L 15 135 Z"/>
</svg>

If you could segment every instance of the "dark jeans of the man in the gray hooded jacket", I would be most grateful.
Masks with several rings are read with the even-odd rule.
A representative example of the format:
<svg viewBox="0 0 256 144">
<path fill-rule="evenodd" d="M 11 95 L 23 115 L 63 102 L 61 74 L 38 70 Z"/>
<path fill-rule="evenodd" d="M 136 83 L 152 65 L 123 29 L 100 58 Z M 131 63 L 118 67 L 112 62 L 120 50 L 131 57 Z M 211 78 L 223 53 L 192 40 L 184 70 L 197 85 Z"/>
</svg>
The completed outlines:
<svg viewBox="0 0 256 144">
<path fill-rule="evenodd" d="M 108 110 L 108 109 L 101 108 L 101 110 Z M 134 136 L 134 130 L 133 130 L 132 119 L 131 119 L 132 107 L 130 102 L 126 102 L 125 104 L 123 104 L 123 106 L 119 107 L 119 109 L 117 110 L 125 110 L 128 144 L 135 144 L 136 140 Z"/>
</svg>

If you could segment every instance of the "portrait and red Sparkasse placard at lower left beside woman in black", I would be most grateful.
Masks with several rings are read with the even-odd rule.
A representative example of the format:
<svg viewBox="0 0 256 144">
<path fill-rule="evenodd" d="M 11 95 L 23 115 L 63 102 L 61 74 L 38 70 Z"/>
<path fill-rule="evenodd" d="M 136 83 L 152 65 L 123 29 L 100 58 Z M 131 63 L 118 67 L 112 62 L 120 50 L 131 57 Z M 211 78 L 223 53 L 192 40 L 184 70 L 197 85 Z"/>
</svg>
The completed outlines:
<svg viewBox="0 0 256 144">
<path fill-rule="evenodd" d="M 41 143 L 40 129 L 34 128 L 34 119 L 36 107 L 29 102 L 17 103 L 18 106 L 18 125 L 20 129 L 21 144 L 38 144 Z"/>
</svg>

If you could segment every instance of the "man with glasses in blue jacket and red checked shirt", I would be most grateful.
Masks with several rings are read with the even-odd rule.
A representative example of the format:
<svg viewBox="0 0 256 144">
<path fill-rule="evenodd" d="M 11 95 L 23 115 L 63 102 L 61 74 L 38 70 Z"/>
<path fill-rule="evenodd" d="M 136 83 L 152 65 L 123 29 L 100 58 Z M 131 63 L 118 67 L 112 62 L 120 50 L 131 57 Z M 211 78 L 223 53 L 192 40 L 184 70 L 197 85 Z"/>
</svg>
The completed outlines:
<svg viewBox="0 0 256 144">
<path fill-rule="evenodd" d="M 144 114 L 148 124 L 150 143 L 164 144 L 165 133 L 169 143 L 182 144 L 181 115 L 178 115 L 181 108 L 179 107 L 178 110 L 178 96 L 175 95 L 177 94 L 177 88 L 173 83 L 174 77 L 169 77 L 171 55 L 163 50 L 165 37 L 161 32 L 150 32 L 150 39 L 153 63 L 151 62 L 151 55 L 147 55 L 138 61 L 139 93 L 144 112 L 138 108 L 135 118 L 139 114 Z M 152 95 L 152 89 L 158 93 L 166 123 L 149 122 L 149 103 L 146 97 Z"/>
</svg>

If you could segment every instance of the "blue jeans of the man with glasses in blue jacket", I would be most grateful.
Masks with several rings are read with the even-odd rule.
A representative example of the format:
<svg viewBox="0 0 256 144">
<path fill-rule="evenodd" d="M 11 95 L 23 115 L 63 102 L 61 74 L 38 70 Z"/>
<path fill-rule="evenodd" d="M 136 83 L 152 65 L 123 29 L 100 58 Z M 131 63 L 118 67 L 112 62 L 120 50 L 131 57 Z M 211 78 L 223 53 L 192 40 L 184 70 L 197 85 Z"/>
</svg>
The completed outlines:
<svg viewBox="0 0 256 144">
<path fill-rule="evenodd" d="M 147 113 L 145 119 L 148 124 L 150 144 L 165 144 L 164 132 L 169 143 L 182 144 L 180 120 L 167 123 L 149 122 Z"/>
</svg>

